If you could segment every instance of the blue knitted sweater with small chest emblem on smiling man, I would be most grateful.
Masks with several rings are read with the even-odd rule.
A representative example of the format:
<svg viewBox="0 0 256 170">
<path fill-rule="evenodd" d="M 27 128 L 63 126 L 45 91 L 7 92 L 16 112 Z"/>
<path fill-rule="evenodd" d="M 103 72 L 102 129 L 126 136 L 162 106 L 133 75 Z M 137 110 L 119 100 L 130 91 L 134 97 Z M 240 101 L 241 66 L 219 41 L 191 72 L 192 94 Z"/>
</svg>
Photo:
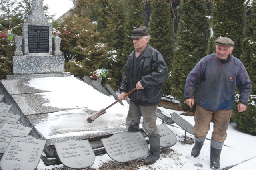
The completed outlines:
<svg viewBox="0 0 256 170">
<path fill-rule="evenodd" d="M 216 53 L 202 58 L 186 79 L 185 99 L 193 98 L 197 85 L 196 104 L 210 111 L 233 109 L 235 91 L 240 91 L 238 103 L 248 105 L 252 82 L 242 62 L 230 56 L 221 63 Z"/>
</svg>

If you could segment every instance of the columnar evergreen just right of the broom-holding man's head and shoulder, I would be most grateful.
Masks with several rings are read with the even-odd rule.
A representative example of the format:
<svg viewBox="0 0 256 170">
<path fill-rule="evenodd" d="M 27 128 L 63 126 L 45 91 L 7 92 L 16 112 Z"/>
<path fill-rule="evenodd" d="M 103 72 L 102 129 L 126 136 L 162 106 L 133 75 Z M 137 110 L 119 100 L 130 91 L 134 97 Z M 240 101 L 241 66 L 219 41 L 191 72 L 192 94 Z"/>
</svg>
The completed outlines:
<svg viewBox="0 0 256 170">
<path fill-rule="evenodd" d="M 174 26 L 170 7 L 166 0 L 152 0 L 150 5 L 151 15 L 148 28 L 151 38 L 149 44 L 163 55 L 170 72 L 172 57 L 174 57 Z M 170 94 L 170 76 L 164 85 L 163 94 Z"/>
</svg>

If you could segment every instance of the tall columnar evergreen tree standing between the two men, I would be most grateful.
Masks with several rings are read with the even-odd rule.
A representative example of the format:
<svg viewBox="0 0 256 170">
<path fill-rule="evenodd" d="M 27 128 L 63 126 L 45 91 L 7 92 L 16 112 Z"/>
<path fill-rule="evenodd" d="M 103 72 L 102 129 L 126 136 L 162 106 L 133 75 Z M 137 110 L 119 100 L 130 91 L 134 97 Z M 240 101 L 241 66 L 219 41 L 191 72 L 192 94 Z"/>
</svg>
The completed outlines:
<svg viewBox="0 0 256 170">
<path fill-rule="evenodd" d="M 188 73 L 206 55 L 210 37 L 205 0 L 182 0 L 177 48 L 172 62 L 171 92 L 184 106 L 184 86 Z"/>
</svg>

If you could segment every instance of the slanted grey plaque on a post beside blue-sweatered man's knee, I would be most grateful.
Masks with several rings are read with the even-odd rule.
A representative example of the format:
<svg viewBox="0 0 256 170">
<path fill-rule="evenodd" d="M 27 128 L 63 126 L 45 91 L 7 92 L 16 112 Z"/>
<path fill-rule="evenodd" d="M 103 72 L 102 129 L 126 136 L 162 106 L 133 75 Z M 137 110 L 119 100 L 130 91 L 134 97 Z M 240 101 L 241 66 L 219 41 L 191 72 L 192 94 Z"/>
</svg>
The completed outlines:
<svg viewBox="0 0 256 170">
<path fill-rule="evenodd" d="M 190 134 L 194 135 L 193 132 L 193 125 L 191 125 L 188 121 L 186 121 L 185 119 L 183 119 L 180 115 L 178 115 L 177 113 L 173 112 L 170 114 L 172 117 L 172 120 L 179 125 L 181 128 L 183 128 L 184 130 L 186 130 L 187 132 L 189 132 Z"/>
</svg>

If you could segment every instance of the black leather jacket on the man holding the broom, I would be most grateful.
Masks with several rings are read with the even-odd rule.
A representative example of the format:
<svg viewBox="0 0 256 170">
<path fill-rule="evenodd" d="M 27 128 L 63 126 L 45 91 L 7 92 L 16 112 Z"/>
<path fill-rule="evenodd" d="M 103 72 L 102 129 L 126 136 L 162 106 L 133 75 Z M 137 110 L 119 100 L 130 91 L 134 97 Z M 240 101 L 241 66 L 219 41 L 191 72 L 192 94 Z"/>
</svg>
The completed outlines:
<svg viewBox="0 0 256 170">
<path fill-rule="evenodd" d="M 150 106 L 157 105 L 161 100 L 164 82 L 168 77 L 168 68 L 164 61 L 162 54 L 156 49 L 147 45 L 146 49 L 142 52 L 142 57 L 137 65 L 136 81 L 133 80 L 133 57 L 135 51 L 130 53 L 129 58 L 125 65 L 124 77 L 120 93 L 128 93 L 136 87 L 136 83 L 144 86 L 144 89 L 134 91 L 129 95 L 129 99 L 138 105 Z"/>
</svg>

